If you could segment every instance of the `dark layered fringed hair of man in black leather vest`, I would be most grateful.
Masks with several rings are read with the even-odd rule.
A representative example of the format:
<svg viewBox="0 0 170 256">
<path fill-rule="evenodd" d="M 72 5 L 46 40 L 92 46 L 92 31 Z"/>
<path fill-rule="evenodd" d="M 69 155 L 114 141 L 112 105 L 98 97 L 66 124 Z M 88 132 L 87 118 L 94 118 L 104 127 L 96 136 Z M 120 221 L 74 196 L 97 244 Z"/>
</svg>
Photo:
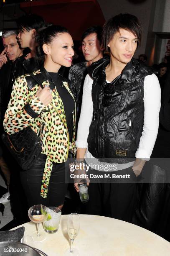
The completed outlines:
<svg viewBox="0 0 170 256">
<path fill-rule="evenodd" d="M 120 13 L 107 20 L 103 26 L 102 43 L 105 48 L 113 39 L 114 34 L 119 32 L 120 28 L 129 31 L 136 36 L 138 39 L 137 46 L 141 44 L 142 25 L 138 18 L 129 13 Z"/>
</svg>

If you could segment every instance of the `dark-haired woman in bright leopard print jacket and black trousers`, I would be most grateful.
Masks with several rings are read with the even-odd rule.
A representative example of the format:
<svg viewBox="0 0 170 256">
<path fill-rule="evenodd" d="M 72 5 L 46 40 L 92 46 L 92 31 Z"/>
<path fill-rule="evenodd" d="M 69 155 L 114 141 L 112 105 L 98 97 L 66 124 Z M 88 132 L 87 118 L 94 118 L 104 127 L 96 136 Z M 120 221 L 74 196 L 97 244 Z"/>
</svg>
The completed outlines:
<svg viewBox="0 0 170 256">
<path fill-rule="evenodd" d="M 45 60 L 43 67 L 33 74 L 43 80 L 44 88 L 29 74 L 18 77 L 5 113 L 4 128 L 12 134 L 30 125 L 38 134 L 44 123 L 42 152 L 33 167 L 20 172 L 20 178 L 29 206 L 62 208 L 68 185 L 65 162 L 69 151 L 75 153 L 75 101 L 58 70 L 71 66 L 73 40 L 66 28 L 48 25 L 41 29 L 36 41 Z"/>
</svg>

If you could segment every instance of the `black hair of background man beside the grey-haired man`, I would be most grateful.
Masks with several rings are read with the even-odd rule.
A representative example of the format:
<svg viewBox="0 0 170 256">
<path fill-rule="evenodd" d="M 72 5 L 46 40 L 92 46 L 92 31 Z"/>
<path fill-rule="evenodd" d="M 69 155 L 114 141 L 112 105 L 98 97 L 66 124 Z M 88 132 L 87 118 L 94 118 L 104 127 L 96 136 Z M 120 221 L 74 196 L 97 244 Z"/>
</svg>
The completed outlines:
<svg viewBox="0 0 170 256">
<path fill-rule="evenodd" d="M 44 19 L 36 14 L 24 15 L 18 18 L 17 26 L 20 31 L 30 31 L 31 29 L 36 29 L 38 31 L 39 28 L 45 26 Z"/>
</svg>

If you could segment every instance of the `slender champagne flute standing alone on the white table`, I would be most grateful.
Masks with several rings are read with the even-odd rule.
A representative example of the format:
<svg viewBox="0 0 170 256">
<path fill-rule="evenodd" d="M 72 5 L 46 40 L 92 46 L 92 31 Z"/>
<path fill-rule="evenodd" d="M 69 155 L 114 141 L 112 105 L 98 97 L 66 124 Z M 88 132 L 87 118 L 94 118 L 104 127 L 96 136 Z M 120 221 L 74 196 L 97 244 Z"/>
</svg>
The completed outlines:
<svg viewBox="0 0 170 256">
<path fill-rule="evenodd" d="M 76 248 L 73 248 L 73 242 L 79 233 L 79 228 L 80 228 L 79 214 L 71 213 L 69 215 L 68 222 L 67 222 L 67 232 L 71 241 L 71 247 L 69 250 L 67 250 L 66 255 L 71 255 L 71 256 L 79 255 L 78 250 Z"/>
</svg>

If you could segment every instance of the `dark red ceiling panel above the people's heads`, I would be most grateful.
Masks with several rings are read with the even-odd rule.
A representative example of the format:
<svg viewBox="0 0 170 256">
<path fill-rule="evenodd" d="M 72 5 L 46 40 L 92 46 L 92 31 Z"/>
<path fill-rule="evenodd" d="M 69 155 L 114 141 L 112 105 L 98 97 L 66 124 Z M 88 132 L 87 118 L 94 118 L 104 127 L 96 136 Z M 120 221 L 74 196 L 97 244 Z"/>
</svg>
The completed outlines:
<svg viewBox="0 0 170 256">
<path fill-rule="evenodd" d="M 21 3 L 26 13 L 43 16 L 46 22 L 66 27 L 74 40 L 90 26 L 103 26 L 105 20 L 96 0 L 42 0 Z"/>
</svg>

